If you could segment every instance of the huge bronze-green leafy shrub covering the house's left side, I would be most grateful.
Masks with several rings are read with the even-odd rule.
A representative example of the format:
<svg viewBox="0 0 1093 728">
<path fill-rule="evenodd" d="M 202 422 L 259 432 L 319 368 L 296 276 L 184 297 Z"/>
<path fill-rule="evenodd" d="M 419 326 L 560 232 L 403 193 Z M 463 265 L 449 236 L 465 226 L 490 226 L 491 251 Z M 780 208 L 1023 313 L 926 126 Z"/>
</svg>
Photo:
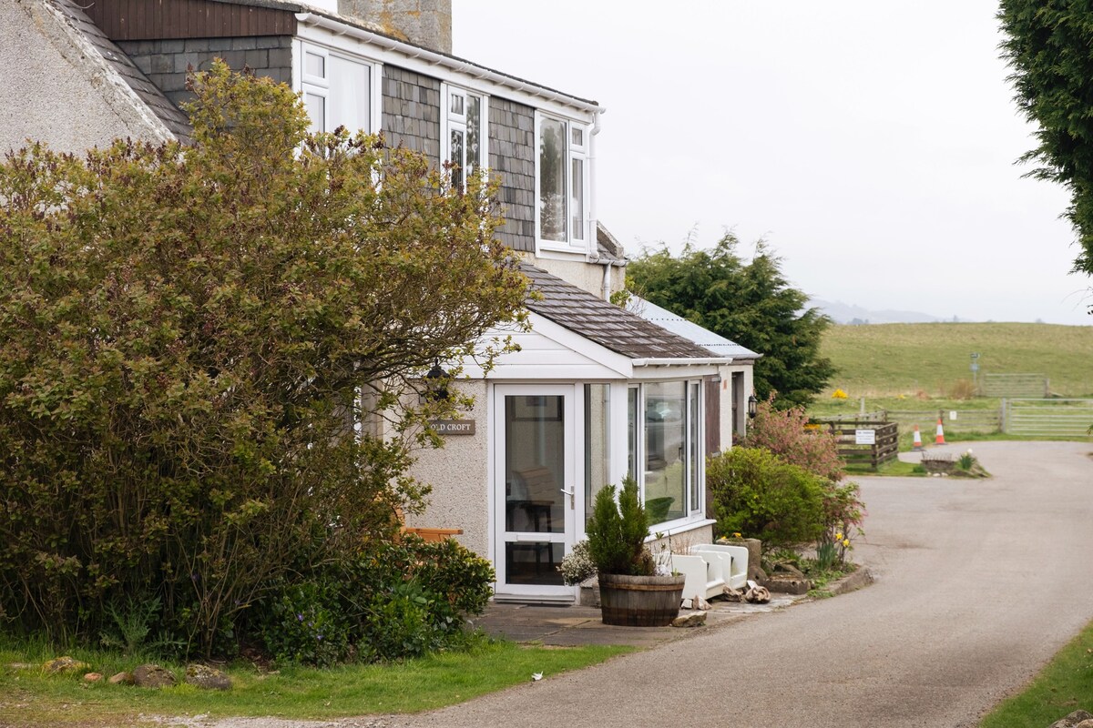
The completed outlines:
<svg viewBox="0 0 1093 728">
<path fill-rule="evenodd" d="M 185 652 L 392 536 L 458 398 L 400 398 L 504 348 L 526 279 L 467 191 L 379 138 L 307 134 L 284 85 L 199 74 L 193 145 L 34 144 L 0 165 L 0 620 L 96 639 L 158 599 Z M 354 421 L 391 420 L 378 439 Z M 277 595 L 274 597 L 274 595 Z M 289 601 L 285 602 L 284 599 Z"/>
</svg>

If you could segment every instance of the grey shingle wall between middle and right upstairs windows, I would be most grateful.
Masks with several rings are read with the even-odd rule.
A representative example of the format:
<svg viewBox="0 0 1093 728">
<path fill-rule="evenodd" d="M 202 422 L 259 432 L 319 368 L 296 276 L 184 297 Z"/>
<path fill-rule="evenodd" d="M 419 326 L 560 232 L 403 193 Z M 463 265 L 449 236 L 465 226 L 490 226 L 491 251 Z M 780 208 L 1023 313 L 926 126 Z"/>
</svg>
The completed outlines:
<svg viewBox="0 0 1093 728">
<path fill-rule="evenodd" d="M 536 250 L 534 109 L 490 99 L 490 168 L 501 176 L 505 225 L 497 237 L 514 250 Z"/>
</svg>

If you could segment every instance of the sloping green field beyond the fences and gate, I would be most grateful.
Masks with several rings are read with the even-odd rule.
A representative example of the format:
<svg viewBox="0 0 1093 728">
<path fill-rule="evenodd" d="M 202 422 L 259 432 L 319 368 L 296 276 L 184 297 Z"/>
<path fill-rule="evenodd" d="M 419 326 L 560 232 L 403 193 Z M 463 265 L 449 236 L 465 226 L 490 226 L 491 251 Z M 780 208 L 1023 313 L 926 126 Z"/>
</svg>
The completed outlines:
<svg viewBox="0 0 1093 728">
<path fill-rule="evenodd" d="M 838 372 L 816 404 L 836 389 L 855 401 L 951 397 L 971 383 L 972 353 L 979 354 L 980 374 L 1042 373 L 1053 394 L 1093 396 L 1093 326 L 896 323 L 827 330 L 821 355 Z"/>
</svg>

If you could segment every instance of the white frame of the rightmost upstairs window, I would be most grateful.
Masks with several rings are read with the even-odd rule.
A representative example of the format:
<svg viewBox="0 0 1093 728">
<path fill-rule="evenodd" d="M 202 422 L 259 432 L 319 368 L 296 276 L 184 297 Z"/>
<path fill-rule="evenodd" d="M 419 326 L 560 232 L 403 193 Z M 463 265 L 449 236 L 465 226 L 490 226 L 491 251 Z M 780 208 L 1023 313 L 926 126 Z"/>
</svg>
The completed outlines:
<svg viewBox="0 0 1093 728">
<path fill-rule="evenodd" d="M 542 143 L 542 123 L 544 120 L 561 122 L 565 127 L 565 151 L 563 152 L 563 168 L 565 174 L 565 192 L 562 195 L 565 210 L 565 240 L 550 240 L 542 236 L 542 159 L 540 156 L 540 145 Z M 580 130 L 581 144 L 573 142 L 574 130 Z M 587 252 L 591 240 L 591 169 L 590 169 L 590 147 L 591 147 L 591 124 L 564 117 L 556 114 L 548 114 L 536 110 L 536 138 L 534 138 L 534 160 L 536 160 L 536 240 L 539 250 L 556 250 L 567 252 Z M 580 220 L 574 225 L 573 211 L 571 210 L 572 184 L 573 184 L 573 163 L 581 163 L 581 198 L 583 214 Z"/>
</svg>

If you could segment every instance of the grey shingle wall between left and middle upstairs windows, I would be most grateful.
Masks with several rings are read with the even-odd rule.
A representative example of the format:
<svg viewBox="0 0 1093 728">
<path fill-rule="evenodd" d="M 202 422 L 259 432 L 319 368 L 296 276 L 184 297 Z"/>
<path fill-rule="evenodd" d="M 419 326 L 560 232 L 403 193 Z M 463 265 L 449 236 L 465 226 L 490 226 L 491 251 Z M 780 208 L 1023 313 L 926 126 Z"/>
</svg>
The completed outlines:
<svg viewBox="0 0 1093 728">
<path fill-rule="evenodd" d="M 384 136 L 440 164 L 440 82 L 384 65 Z"/>
</svg>

